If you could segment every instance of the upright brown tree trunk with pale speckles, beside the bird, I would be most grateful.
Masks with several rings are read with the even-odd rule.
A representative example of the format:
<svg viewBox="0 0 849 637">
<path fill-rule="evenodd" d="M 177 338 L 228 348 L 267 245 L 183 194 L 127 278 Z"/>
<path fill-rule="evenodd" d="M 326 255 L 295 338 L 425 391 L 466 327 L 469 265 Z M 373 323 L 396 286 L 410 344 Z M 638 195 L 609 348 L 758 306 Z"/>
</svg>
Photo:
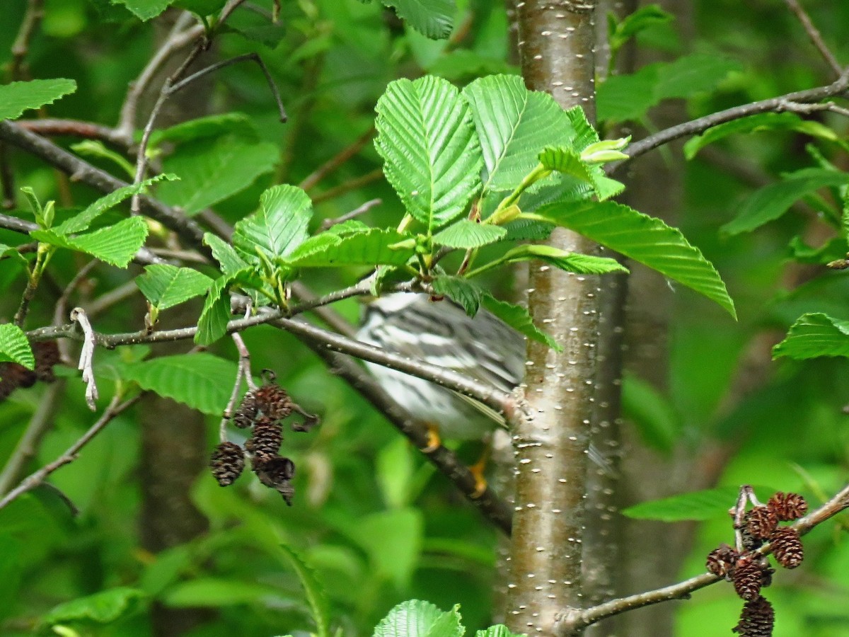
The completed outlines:
<svg viewBox="0 0 849 637">
<path fill-rule="evenodd" d="M 594 2 L 518 2 L 522 73 L 529 88 L 594 119 Z M 548 241 L 597 251 L 571 232 Z M 511 544 L 509 628 L 555 634 L 558 613 L 582 606 L 583 500 L 593 419 L 599 280 L 532 264 L 528 305 L 563 352 L 528 348 L 528 417 L 514 423 L 516 498 Z"/>
</svg>

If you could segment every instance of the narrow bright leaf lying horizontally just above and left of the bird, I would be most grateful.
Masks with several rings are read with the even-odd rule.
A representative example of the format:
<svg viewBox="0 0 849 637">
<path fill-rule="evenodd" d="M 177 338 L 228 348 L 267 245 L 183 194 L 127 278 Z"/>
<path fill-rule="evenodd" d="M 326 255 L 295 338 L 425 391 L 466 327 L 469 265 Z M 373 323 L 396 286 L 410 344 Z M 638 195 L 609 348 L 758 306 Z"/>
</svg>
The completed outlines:
<svg viewBox="0 0 849 637">
<path fill-rule="evenodd" d="M 318 234 L 291 253 L 285 263 L 293 268 L 332 268 L 349 265 L 396 265 L 408 262 L 414 254 L 413 247 L 398 244 L 408 239 L 407 234 L 395 230 L 371 228 L 340 237 L 336 234 Z"/>
</svg>

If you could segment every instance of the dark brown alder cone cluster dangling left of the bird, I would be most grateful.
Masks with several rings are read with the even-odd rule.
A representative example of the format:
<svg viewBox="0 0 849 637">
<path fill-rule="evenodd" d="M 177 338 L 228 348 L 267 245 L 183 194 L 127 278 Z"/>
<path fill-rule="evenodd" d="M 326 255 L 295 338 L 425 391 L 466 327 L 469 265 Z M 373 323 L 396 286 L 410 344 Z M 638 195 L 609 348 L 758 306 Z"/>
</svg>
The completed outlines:
<svg viewBox="0 0 849 637">
<path fill-rule="evenodd" d="M 212 452 L 210 466 L 218 484 L 228 487 L 245 469 L 245 454 L 250 458 L 250 467 L 260 482 L 273 488 L 283 496 L 287 505 L 292 505 L 295 488 L 295 463 L 279 454 L 283 443 L 284 420 L 292 412 L 305 417 L 302 423 L 293 423 L 292 431 L 308 431 L 318 424 L 318 418 L 295 403 L 283 387 L 274 382 L 273 373 L 263 371 L 262 386 L 245 394 L 239 409 L 233 415 L 233 425 L 239 429 L 250 429 L 245 448 L 228 441 L 220 443 Z"/>
</svg>

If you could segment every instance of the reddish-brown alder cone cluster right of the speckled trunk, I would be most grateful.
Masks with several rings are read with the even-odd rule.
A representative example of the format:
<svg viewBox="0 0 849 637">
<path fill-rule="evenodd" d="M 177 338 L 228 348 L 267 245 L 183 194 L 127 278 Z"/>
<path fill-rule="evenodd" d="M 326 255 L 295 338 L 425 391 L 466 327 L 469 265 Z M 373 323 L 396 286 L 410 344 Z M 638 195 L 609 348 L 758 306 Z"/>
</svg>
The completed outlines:
<svg viewBox="0 0 849 637">
<path fill-rule="evenodd" d="M 784 568 L 796 568 L 804 556 L 799 532 L 779 522 L 798 520 L 807 513 L 807 502 L 798 493 L 778 492 L 766 505 L 735 518 L 736 548 L 721 544 L 707 555 L 707 570 L 734 583 L 737 595 L 745 600 L 739 623 L 733 632 L 741 637 L 771 637 L 775 623 L 773 605 L 761 595 L 761 589 L 773 581 L 775 569 L 767 555 L 757 550 L 767 542 L 775 561 Z"/>
</svg>

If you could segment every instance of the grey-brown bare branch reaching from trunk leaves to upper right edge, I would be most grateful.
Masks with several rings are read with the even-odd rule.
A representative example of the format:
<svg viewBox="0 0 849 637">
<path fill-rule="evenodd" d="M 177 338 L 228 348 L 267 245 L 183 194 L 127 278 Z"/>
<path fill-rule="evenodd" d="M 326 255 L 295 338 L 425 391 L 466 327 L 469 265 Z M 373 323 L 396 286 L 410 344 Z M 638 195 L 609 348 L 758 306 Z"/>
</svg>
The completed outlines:
<svg viewBox="0 0 849 637">
<path fill-rule="evenodd" d="M 795 93 L 787 93 L 777 98 L 762 99 L 759 102 L 751 104 L 742 104 L 733 108 L 720 110 L 711 115 L 699 117 L 693 121 L 685 121 L 683 124 L 678 124 L 673 127 L 666 128 L 660 132 L 655 132 L 654 135 L 639 140 L 631 144 L 623 152 L 628 155 L 627 160 L 622 160 L 613 164 L 608 164 L 605 171 L 610 174 L 627 161 L 631 161 L 640 155 L 644 155 L 649 150 L 655 149 L 663 144 L 668 144 L 675 139 L 695 135 L 705 132 L 708 128 L 715 127 L 718 124 L 723 124 L 726 121 L 739 120 L 741 117 L 756 115 L 757 113 L 775 112 L 780 113 L 783 110 L 790 110 L 793 107 L 790 104 L 809 104 L 818 102 L 821 99 L 835 97 L 846 93 L 849 88 L 849 68 L 841 72 L 841 76 L 833 83 L 825 87 L 811 88 L 806 91 L 796 91 Z"/>
</svg>

